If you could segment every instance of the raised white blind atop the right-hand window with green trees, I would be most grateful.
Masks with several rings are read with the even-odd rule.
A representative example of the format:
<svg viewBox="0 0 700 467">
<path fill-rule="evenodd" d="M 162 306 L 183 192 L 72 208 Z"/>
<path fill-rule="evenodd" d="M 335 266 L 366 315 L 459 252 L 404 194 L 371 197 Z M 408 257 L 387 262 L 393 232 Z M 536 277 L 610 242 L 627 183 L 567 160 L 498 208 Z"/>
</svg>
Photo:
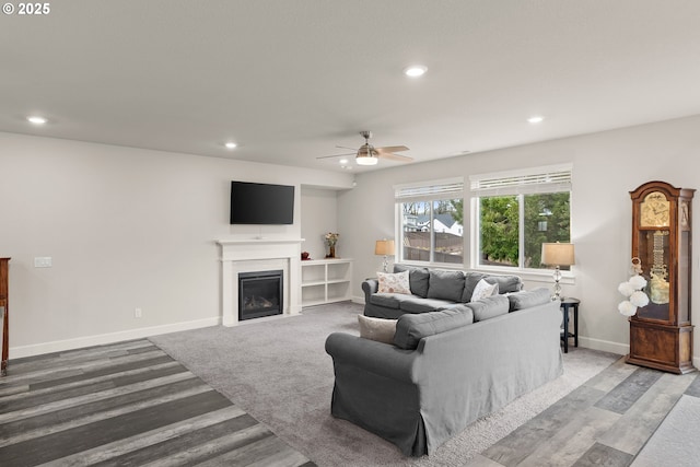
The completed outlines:
<svg viewBox="0 0 700 467">
<path fill-rule="evenodd" d="M 572 165 L 550 165 L 469 177 L 471 195 L 505 196 L 571 191 Z"/>
</svg>

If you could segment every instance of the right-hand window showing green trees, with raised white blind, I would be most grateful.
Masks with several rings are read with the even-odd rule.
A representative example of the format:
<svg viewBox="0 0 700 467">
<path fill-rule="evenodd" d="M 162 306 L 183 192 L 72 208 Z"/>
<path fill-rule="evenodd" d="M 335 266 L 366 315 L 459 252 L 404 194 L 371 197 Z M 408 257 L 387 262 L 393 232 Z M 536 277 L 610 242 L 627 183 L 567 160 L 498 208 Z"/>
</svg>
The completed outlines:
<svg viewBox="0 0 700 467">
<path fill-rule="evenodd" d="M 571 165 L 557 165 L 470 177 L 472 262 L 547 268 L 540 264 L 541 244 L 570 242 L 571 173 Z"/>
</svg>

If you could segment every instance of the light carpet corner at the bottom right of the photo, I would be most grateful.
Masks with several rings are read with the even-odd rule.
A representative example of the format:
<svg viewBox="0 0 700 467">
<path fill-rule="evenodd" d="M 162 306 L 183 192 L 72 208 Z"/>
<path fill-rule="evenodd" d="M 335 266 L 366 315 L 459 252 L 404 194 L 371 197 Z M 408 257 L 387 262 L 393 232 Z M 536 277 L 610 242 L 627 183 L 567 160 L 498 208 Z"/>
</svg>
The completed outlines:
<svg viewBox="0 0 700 467">
<path fill-rule="evenodd" d="M 632 467 L 692 467 L 700 463 L 700 398 L 680 396 Z"/>
</svg>

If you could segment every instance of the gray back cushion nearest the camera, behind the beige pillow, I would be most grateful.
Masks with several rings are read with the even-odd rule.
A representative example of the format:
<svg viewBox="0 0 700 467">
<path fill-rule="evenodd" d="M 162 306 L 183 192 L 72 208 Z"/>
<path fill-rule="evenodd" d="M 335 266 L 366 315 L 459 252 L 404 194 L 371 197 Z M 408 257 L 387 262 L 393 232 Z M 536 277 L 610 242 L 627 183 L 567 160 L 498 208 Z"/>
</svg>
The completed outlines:
<svg viewBox="0 0 700 467">
<path fill-rule="evenodd" d="M 471 323 L 474 323 L 474 314 L 471 308 L 465 305 L 419 315 L 401 315 L 396 323 L 394 345 L 401 349 L 416 349 L 423 337 Z"/>
</svg>

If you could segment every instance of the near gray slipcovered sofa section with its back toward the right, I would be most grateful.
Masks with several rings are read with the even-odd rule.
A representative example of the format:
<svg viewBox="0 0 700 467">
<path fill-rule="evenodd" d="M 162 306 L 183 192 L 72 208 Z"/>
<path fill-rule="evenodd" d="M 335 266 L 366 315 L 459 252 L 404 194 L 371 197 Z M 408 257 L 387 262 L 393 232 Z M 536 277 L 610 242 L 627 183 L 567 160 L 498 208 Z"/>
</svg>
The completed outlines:
<svg viewBox="0 0 700 467">
<path fill-rule="evenodd" d="M 547 289 L 520 288 L 470 303 L 425 293 L 415 303 L 440 308 L 423 312 L 401 308 L 408 301 L 400 297 L 398 307 L 370 302 L 365 314 L 395 318 L 378 319 L 395 323 L 394 336 L 388 343 L 346 332 L 327 338 L 336 376 L 331 413 L 421 456 L 561 375 L 559 302 Z"/>
</svg>

